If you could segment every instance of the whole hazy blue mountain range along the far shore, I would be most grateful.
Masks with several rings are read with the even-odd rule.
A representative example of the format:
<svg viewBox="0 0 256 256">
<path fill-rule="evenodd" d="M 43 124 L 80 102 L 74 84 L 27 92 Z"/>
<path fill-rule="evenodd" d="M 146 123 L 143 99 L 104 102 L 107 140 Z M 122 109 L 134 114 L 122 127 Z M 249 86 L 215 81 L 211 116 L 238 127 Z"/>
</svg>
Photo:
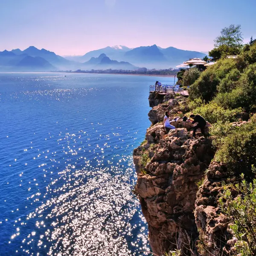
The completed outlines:
<svg viewBox="0 0 256 256">
<path fill-rule="evenodd" d="M 163 49 L 155 44 L 134 49 L 114 46 L 87 52 L 83 56 L 61 57 L 46 49 L 29 47 L 0 52 L 0 71 L 51 71 L 116 69 L 136 70 L 138 67 L 170 68 L 189 58 L 203 58 L 202 52 L 169 47 Z"/>
</svg>

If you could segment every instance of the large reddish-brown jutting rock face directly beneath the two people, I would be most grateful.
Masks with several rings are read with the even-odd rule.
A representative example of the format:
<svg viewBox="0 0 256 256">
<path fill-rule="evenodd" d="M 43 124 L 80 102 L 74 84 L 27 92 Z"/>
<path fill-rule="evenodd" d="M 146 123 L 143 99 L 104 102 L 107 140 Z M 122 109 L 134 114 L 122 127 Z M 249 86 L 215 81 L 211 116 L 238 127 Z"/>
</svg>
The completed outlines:
<svg viewBox="0 0 256 256">
<path fill-rule="evenodd" d="M 184 255 L 197 255 L 193 254 L 198 236 L 193 213 L 196 183 L 213 151 L 209 139 L 191 138 L 191 126 L 185 123 L 175 124 L 181 128 L 171 130 L 164 139 L 163 125 L 152 125 L 146 133 L 147 143 L 134 150 L 136 190 L 148 222 L 149 242 L 157 255 L 177 247 Z M 146 164 L 142 161 L 145 154 L 149 156 Z"/>
</svg>

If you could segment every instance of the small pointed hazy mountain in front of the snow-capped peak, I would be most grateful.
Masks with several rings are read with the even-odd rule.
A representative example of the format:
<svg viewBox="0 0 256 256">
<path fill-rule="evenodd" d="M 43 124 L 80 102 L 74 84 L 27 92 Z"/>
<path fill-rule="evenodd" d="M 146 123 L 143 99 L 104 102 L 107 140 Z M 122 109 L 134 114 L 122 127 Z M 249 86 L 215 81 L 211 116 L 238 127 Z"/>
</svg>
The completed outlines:
<svg viewBox="0 0 256 256">
<path fill-rule="evenodd" d="M 134 65 L 125 62 L 125 61 L 114 61 L 111 60 L 105 53 L 102 53 L 99 55 L 98 58 L 90 58 L 89 61 L 86 61 L 83 63 L 83 69 L 86 70 L 106 70 L 106 69 L 112 69 L 112 70 L 137 70 L 138 67 L 135 67 Z"/>
</svg>

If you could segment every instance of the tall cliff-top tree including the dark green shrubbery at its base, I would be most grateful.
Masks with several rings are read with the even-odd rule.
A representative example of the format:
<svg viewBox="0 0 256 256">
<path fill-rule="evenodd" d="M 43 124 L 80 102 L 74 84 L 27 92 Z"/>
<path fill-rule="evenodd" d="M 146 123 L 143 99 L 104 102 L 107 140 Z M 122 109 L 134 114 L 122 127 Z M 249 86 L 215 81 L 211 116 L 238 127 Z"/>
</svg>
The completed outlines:
<svg viewBox="0 0 256 256">
<path fill-rule="evenodd" d="M 243 46 L 241 25 L 230 25 L 221 29 L 221 35 L 214 40 L 214 49 L 209 52 L 213 58 L 221 58 L 227 55 L 238 55 Z"/>
</svg>

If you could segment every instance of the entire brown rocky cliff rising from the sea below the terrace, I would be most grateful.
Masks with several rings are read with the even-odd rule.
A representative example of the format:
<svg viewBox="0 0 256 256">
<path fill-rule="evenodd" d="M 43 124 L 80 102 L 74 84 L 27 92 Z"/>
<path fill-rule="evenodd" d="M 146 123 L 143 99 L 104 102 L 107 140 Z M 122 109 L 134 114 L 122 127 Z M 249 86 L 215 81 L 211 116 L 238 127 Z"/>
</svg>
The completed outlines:
<svg viewBox="0 0 256 256">
<path fill-rule="evenodd" d="M 193 138 L 192 124 L 181 120 L 172 121 L 176 129 L 165 136 L 165 111 L 181 116 L 189 111 L 186 99 L 151 95 L 149 100 L 154 106 L 148 113 L 152 125 L 134 150 L 134 164 L 135 191 L 153 253 L 161 256 L 181 249 L 188 256 L 230 255 L 235 241 L 218 207 L 221 182 L 228 176 L 225 166 L 212 162 L 211 139 L 199 132 Z"/>
</svg>

